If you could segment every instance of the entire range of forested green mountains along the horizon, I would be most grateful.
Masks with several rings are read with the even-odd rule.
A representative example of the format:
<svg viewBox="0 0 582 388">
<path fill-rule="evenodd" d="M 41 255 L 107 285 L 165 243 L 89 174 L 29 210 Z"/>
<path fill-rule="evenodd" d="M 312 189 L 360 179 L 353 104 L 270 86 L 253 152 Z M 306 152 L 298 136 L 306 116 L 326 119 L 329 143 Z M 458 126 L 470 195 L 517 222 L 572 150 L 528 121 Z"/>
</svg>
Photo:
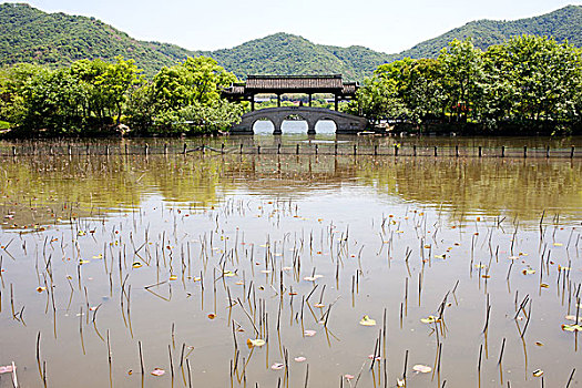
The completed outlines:
<svg viewBox="0 0 582 388">
<path fill-rule="evenodd" d="M 386 54 L 364 47 L 340 48 L 316 44 L 302 37 L 276 33 L 232 49 L 190 51 L 175 44 L 144 42 L 94 18 L 47 13 L 28 4 L 0 4 L 0 65 L 33 62 L 68 65 L 80 59 L 113 61 L 116 55 L 134 59 L 147 75 L 186 57 L 208 55 L 238 78 L 246 74 L 341 73 L 363 80 L 385 62 L 405 57 L 437 57 L 453 39 L 471 37 L 486 49 L 521 34 L 553 35 L 582 47 L 582 7 L 569 6 L 554 12 L 514 21 L 470 22 L 425 41 L 399 54 Z"/>
</svg>

